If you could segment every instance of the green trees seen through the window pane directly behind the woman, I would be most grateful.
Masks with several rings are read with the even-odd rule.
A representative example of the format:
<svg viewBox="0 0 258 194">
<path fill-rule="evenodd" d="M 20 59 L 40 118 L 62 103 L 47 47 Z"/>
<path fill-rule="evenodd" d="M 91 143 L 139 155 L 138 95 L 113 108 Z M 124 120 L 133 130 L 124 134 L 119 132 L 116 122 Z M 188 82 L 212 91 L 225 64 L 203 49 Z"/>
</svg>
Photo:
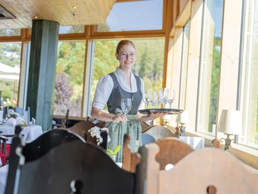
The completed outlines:
<svg viewBox="0 0 258 194">
<path fill-rule="evenodd" d="M 93 73 L 91 80 L 91 104 L 98 81 L 103 76 L 116 71 L 118 40 L 95 41 Z M 145 88 L 158 89 L 163 83 L 163 58 L 165 39 L 133 39 L 136 46 L 136 62 L 133 73 L 145 82 Z M 107 111 L 107 107 L 104 108 Z"/>
</svg>

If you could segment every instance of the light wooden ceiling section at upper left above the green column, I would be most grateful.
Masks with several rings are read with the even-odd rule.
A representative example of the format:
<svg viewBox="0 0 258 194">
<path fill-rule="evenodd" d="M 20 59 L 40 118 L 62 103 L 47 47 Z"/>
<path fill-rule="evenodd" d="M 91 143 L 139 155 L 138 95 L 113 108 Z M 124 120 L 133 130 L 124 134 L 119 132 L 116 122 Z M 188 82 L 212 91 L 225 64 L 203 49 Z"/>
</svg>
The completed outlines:
<svg viewBox="0 0 258 194">
<path fill-rule="evenodd" d="M 8 10 L 0 7 L 0 29 L 30 28 L 35 17 L 58 21 L 61 26 L 103 24 L 115 3 L 116 0 L 0 0 Z M 12 16 L 15 19 L 3 19 Z"/>
</svg>

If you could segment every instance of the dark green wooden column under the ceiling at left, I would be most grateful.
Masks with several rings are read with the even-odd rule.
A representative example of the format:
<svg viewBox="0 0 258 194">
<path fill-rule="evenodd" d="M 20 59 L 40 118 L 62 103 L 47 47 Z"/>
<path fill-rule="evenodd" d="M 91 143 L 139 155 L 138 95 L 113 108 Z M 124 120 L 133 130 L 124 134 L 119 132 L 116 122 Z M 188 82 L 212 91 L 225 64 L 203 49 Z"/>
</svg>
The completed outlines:
<svg viewBox="0 0 258 194">
<path fill-rule="evenodd" d="M 58 31 L 57 21 L 33 20 L 26 106 L 43 130 L 52 127 Z"/>
</svg>

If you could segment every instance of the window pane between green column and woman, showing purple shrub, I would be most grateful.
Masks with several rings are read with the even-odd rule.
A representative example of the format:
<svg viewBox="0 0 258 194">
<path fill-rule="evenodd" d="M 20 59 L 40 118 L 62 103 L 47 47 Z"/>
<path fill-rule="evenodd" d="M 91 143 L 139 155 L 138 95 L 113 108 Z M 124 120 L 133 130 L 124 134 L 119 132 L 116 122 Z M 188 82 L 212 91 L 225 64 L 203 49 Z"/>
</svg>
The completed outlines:
<svg viewBox="0 0 258 194">
<path fill-rule="evenodd" d="M 86 42 L 59 42 L 55 77 L 55 115 L 82 116 Z"/>
</svg>

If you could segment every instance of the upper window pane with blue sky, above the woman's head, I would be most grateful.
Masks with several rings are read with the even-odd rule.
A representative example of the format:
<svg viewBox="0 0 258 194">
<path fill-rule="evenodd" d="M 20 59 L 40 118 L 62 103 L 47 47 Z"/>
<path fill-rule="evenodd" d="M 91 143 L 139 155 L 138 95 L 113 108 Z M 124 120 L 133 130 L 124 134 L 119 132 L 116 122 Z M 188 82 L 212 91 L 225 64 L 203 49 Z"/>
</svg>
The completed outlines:
<svg viewBox="0 0 258 194">
<path fill-rule="evenodd" d="M 162 29 L 163 0 L 117 2 L 105 24 L 95 26 L 98 33 Z"/>
</svg>

